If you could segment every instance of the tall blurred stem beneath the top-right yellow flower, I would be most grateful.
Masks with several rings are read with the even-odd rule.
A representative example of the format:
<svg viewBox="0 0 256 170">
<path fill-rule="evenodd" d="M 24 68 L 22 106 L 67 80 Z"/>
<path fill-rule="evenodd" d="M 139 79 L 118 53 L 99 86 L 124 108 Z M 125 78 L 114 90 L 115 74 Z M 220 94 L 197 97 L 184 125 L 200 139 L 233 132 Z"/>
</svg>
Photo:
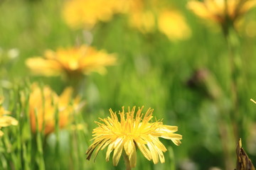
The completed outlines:
<svg viewBox="0 0 256 170">
<path fill-rule="evenodd" d="M 240 130 L 238 125 L 241 123 L 240 118 L 240 87 L 242 79 L 242 61 L 240 56 L 240 40 L 238 33 L 236 32 L 233 23 L 227 23 L 223 30 L 225 39 L 228 45 L 229 50 L 229 64 L 230 64 L 230 98 L 232 102 L 232 107 L 230 109 L 230 120 L 233 128 L 233 138 L 238 139 L 240 136 Z M 225 134 L 224 134 L 225 135 Z M 235 142 L 232 143 L 232 140 L 229 142 L 231 146 L 235 147 Z M 232 147 L 232 148 L 233 148 Z M 228 155 L 234 155 L 233 149 L 228 149 Z M 233 156 L 234 157 L 234 156 Z M 231 168 L 230 164 L 233 164 L 233 157 L 228 157 L 225 164 L 226 168 Z"/>
</svg>

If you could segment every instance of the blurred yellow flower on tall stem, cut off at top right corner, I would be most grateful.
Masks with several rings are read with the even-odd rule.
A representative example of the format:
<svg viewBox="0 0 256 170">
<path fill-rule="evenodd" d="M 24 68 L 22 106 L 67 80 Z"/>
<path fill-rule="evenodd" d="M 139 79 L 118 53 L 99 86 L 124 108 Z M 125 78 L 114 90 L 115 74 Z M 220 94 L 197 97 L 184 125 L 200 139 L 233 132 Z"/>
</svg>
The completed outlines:
<svg viewBox="0 0 256 170">
<path fill-rule="evenodd" d="M 256 6 L 255 0 L 204 0 L 188 1 L 188 8 L 197 16 L 206 20 L 215 21 L 223 25 L 240 18 L 250 8 Z"/>
</svg>

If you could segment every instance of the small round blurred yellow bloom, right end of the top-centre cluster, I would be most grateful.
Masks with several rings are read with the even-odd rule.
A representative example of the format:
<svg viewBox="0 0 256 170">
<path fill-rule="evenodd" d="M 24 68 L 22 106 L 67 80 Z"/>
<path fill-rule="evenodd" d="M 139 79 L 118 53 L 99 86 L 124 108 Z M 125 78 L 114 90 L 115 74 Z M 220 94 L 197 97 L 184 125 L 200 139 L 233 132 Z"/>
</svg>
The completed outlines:
<svg viewBox="0 0 256 170">
<path fill-rule="evenodd" d="M 183 40 L 191 35 L 191 30 L 185 18 L 178 11 L 161 11 L 158 18 L 158 27 L 170 40 Z"/>
</svg>

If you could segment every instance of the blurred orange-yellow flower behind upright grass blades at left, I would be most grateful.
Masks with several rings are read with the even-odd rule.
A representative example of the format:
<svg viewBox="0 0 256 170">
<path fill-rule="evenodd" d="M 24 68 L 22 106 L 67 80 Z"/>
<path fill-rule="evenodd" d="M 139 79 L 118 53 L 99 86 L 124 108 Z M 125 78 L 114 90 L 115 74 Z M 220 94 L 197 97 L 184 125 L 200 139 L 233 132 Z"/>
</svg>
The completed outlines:
<svg viewBox="0 0 256 170">
<path fill-rule="evenodd" d="M 31 130 L 36 132 L 38 125 L 38 130 L 41 131 L 44 128 L 46 135 L 53 132 L 55 130 L 56 112 L 59 127 L 64 128 L 65 125 L 68 125 L 72 120 L 71 114 L 80 108 L 79 97 L 76 97 L 71 104 L 72 93 L 73 90 L 71 88 L 66 88 L 63 94 L 58 96 L 48 86 L 41 88 L 36 83 L 32 84 L 29 96 Z"/>
</svg>

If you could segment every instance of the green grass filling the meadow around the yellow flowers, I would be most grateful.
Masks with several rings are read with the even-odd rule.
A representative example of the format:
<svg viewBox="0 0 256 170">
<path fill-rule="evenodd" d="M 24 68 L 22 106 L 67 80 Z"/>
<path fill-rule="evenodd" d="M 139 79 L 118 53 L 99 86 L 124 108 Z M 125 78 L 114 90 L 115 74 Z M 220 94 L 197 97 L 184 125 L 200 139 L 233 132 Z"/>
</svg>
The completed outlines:
<svg viewBox="0 0 256 170">
<path fill-rule="evenodd" d="M 6 98 L 4 108 L 19 122 L 18 126 L 1 128 L 5 134 L 0 139 L 0 169 L 124 169 L 122 159 L 117 167 L 112 166 L 112 159 L 105 162 L 106 150 L 99 152 L 95 162 L 87 161 L 85 155 L 92 143 L 92 129 L 97 127 L 94 121 L 106 118 L 109 108 L 119 111 L 122 106 L 154 108 L 157 119 L 164 118 L 165 125 L 177 125 L 178 134 L 183 135 L 179 147 L 161 140 L 168 148 L 165 164 L 154 165 L 138 152 L 135 169 L 192 169 L 185 168 L 188 163 L 195 169 L 225 169 L 225 147 L 233 146 L 230 159 L 235 169 L 238 137 L 242 137 L 243 147 L 256 164 L 256 106 L 250 102 L 256 94 L 255 38 L 240 33 L 242 74 L 239 115 L 234 118 L 230 52 L 225 38 L 220 30 L 206 26 L 188 11 L 186 2 L 170 3 L 186 16 L 192 31 L 188 40 L 171 42 L 158 32 L 144 35 L 129 27 L 121 14 L 108 23 L 97 24 L 91 31 L 92 46 L 116 53 L 117 64 L 108 67 L 105 75 L 92 73 L 85 77 L 79 95 L 86 106 L 75 115 L 73 123 L 82 123 L 85 128 L 57 128 L 46 137 L 39 131 L 31 133 L 28 106 L 21 104 L 20 93 L 25 91 L 27 99 L 28 84 L 33 81 L 50 85 L 58 94 L 66 84 L 60 77 L 33 77 L 24 61 L 43 55 L 46 49 L 70 47 L 86 40 L 82 30 L 65 25 L 60 15 L 61 0 L 0 1 L 0 94 Z M 255 20 L 255 12 L 250 11 L 246 21 Z M 19 55 L 8 60 L 7 52 L 12 48 L 18 49 Z M 209 98 L 207 87 L 187 85 L 193 72 L 202 68 L 210 72 L 210 84 L 222 91 L 217 100 Z M 58 118 L 55 121 L 58 123 Z M 238 128 L 235 137 L 234 125 Z"/>
</svg>

